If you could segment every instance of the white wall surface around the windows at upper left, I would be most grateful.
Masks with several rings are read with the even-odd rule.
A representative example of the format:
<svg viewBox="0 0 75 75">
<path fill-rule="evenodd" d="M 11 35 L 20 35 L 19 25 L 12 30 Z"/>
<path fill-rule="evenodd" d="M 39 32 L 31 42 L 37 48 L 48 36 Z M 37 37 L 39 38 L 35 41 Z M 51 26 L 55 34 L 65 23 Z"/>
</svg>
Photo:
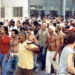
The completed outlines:
<svg viewBox="0 0 75 75">
<path fill-rule="evenodd" d="M 2 0 L 5 8 L 5 18 L 13 17 L 13 7 L 23 7 L 23 17 L 29 17 L 28 0 Z"/>
</svg>

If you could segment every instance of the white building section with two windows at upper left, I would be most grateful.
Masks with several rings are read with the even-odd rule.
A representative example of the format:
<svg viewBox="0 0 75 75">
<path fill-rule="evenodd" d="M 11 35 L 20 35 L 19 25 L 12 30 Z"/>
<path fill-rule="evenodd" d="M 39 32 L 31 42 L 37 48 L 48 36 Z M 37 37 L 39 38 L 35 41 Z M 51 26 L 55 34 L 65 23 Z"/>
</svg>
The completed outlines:
<svg viewBox="0 0 75 75">
<path fill-rule="evenodd" d="M 12 19 L 30 16 L 28 0 L 0 0 L 0 3 L 0 18 Z"/>
</svg>

